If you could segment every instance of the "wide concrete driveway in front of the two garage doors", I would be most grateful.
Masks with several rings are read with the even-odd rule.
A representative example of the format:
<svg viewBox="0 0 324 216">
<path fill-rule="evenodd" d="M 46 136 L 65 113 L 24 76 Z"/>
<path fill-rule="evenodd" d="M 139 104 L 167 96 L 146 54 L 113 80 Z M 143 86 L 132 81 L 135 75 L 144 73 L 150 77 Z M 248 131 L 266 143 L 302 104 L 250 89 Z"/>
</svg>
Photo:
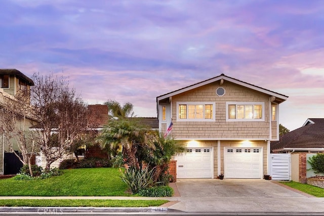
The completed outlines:
<svg viewBox="0 0 324 216">
<path fill-rule="evenodd" d="M 298 193 L 266 180 L 178 179 L 180 202 L 169 209 L 235 214 L 324 215 L 324 198 Z"/>
</svg>

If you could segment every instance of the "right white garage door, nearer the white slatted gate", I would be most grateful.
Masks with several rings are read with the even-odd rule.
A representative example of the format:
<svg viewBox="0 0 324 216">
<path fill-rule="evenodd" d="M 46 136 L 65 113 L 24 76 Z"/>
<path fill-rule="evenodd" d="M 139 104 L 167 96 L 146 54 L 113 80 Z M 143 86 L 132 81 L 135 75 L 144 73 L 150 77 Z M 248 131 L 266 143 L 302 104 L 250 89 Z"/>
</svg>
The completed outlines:
<svg viewBox="0 0 324 216">
<path fill-rule="evenodd" d="M 225 178 L 261 179 L 262 148 L 229 148 L 224 150 Z"/>
</svg>

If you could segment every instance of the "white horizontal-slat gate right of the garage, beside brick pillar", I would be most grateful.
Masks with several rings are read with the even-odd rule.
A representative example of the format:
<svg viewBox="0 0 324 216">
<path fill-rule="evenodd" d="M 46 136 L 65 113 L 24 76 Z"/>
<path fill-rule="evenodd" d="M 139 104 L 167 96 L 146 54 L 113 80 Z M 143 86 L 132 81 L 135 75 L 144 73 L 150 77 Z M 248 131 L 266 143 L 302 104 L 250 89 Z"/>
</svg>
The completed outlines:
<svg viewBox="0 0 324 216">
<path fill-rule="evenodd" d="M 271 179 L 291 180 L 291 154 L 271 155 Z"/>
</svg>

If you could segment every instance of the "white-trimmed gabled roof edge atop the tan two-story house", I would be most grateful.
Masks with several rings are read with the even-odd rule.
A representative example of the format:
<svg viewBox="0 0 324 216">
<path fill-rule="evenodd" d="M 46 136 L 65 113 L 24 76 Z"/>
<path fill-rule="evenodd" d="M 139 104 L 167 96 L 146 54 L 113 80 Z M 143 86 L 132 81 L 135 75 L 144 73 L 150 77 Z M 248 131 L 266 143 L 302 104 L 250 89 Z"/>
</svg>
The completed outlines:
<svg viewBox="0 0 324 216">
<path fill-rule="evenodd" d="M 253 90 L 258 91 L 258 92 L 262 92 L 262 93 L 267 94 L 269 96 L 274 96 L 276 103 L 281 103 L 281 102 L 284 102 L 284 101 L 286 101 L 288 99 L 288 96 L 286 96 L 286 95 L 282 95 L 282 94 L 279 94 L 279 93 L 276 93 L 276 92 L 273 92 L 273 91 L 258 87 L 257 85 L 253 85 L 253 84 L 250 84 L 248 82 L 244 82 L 244 81 L 241 81 L 241 80 L 226 76 L 226 75 L 224 75 L 222 73 L 219 76 L 216 76 L 216 77 L 213 77 L 213 78 L 210 78 L 210 79 L 207 79 L 207 80 L 204 80 L 204 81 L 189 85 L 187 87 L 184 87 L 182 89 L 167 93 L 165 95 L 158 96 L 158 97 L 156 97 L 156 101 L 159 102 L 161 100 L 167 99 L 167 98 L 172 97 L 174 95 L 178 95 L 178 94 L 187 92 L 189 90 L 193 90 L 195 88 L 201 87 L 203 85 L 206 85 L 206 84 L 209 84 L 209 83 L 212 83 L 212 82 L 216 82 L 216 81 L 220 81 L 222 79 L 226 80 L 226 81 L 229 81 L 229 82 L 232 82 L 232 83 L 235 83 L 235 84 L 238 84 L 238 85 L 242 85 L 243 87 L 250 88 L 250 89 L 253 89 Z"/>
</svg>

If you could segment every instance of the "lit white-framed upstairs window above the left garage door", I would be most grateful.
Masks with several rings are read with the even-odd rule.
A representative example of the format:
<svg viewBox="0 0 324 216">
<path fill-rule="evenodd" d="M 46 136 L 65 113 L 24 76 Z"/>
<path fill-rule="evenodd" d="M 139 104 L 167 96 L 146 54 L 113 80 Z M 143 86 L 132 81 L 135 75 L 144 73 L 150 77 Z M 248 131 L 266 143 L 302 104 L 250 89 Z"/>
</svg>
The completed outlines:
<svg viewBox="0 0 324 216">
<path fill-rule="evenodd" d="M 215 103 L 177 103 L 179 121 L 215 120 Z"/>
</svg>

